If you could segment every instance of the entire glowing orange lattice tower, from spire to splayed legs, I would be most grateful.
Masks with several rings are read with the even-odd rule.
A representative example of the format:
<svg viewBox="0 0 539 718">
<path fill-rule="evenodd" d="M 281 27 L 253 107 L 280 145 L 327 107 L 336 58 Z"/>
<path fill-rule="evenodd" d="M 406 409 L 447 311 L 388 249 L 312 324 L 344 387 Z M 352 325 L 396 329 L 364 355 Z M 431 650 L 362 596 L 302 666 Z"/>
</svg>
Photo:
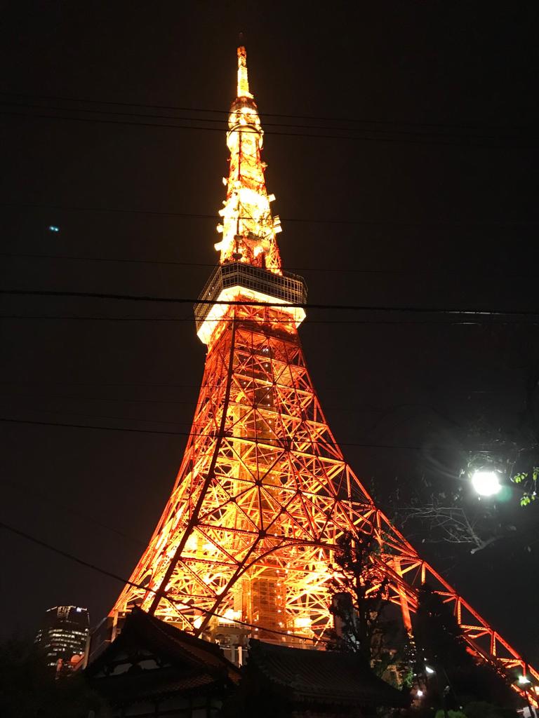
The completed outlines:
<svg viewBox="0 0 539 718">
<path fill-rule="evenodd" d="M 451 603 L 476 653 L 539 680 L 420 558 L 344 460 L 298 337 L 307 292 L 301 277 L 282 271 L 243 47 L 238 65 L 220 264 L 195 306 L 208 353 L 193 427 L 170 499 L 111 618 L 139 605 L 221 644 L 255 635 L 317 645 L 332 624 L 338 537 L 367 533 L 379 544 L 374 574 L 408 630 L 417 587 L 428 582 Z"/>
</svg>

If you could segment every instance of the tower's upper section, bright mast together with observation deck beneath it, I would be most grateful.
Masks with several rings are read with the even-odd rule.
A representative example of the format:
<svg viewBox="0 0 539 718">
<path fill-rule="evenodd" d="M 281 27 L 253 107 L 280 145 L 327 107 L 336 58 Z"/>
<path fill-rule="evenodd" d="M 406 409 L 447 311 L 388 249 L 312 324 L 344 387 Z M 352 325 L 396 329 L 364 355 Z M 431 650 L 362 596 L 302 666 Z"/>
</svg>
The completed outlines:
<svg viewBox="0 0 539 718">
<path fill-rule="evenodd" d="M 260 151 L 264 131 L 257 103 L 249 90 L 247 52 L 243 45 L 237 50 L 237 95 L 229 113 L 226 144 L 230 150 L 229 176 L 223 177 L 226 200 L 219 210 L 222 222 L 217 231 L 222 239 L 215 245 L 221 253 L 201 293 L 203 302 L 195 304 L 197 334 L 211 345 L 220 335 L 220 320 L 229 312 L 226 302 L 262 302 L 280 306 L 281 317 L 290 317 L 290 326 L 298 327 L 305 319 L 301 306 L 307 299 L 307 288 L 300 276 L 281 269 L 277 246 L 280 219 L 272 215 Z M 215 304 L 211 302 L 215 301 Z M 291 305 L 291 306 L 290 306 Z M 283 324 L 282 326 L 284 327 Z"/>
</svg>

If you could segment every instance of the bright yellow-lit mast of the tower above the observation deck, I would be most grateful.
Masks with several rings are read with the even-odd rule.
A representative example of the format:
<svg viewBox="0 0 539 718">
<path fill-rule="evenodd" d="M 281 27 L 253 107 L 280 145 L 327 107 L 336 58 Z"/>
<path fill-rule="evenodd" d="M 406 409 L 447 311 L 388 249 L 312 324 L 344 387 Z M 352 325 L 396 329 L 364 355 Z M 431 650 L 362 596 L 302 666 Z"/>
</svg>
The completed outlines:
<svg viewBox="0 0 539 718">
<path fill-rule="evenodd" d="M 229 176 L 223 178 L 226 200 L 219 210 L 223 221 L 217 225 L 223 237 L 215 248 L 221 252 L 220 264 L 241 262 L 281 275 L 275 238 L 281 231 L 281 223 L 270 208 L 275 195 L 268 195 L 266 190 L 266 163 L 260 154 L 264 131 L 257 103 L 249 91 L 247 51 L 243 45 L 238 47 L 237 55 L 237 95 L 231 104 L 226 135 L 230 150 Z"/>
</svg>

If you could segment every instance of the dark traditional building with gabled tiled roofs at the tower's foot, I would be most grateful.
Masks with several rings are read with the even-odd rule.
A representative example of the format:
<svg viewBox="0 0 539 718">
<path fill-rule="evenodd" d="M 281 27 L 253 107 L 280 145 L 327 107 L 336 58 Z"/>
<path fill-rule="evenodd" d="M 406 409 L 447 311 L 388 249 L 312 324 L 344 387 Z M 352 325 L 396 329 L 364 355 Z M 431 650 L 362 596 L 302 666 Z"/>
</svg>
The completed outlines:
<svg viewBox="0 0 539 718">
<path fill-rule="evenodd" d="M 106 706 L 96 718 L 366 718 L 410 703 L 356 654 L 251 639 L 240 670 L 137 608 L 85 675 Z"/>
</svg>

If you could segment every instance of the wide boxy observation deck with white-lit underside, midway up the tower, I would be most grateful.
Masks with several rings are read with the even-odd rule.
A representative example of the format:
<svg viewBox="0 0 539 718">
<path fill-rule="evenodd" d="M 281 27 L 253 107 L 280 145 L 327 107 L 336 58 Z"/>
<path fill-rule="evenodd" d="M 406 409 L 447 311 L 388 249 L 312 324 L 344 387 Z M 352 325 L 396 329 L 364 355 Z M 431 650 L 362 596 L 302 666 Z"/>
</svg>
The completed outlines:
<svg viewBox="0 0 539 718">
<path fill-rule="evenodd" d="M 239 296 L 253 302 L 282 304 L 282 310 L 292 315 L 296 327 L 305 319 L 305 309 L 298 306 L 307 302 L 307 285 L 302 276 L 290 272 L 275 274 L 242 262 L 221 264 L 198 297 L 203 302 L 194 306 L 196 332 L 204 344 L 208 344 L 216 322 L 228 309 L 226 304 L 213 302 L 234 302 Z"/>
</svg>

